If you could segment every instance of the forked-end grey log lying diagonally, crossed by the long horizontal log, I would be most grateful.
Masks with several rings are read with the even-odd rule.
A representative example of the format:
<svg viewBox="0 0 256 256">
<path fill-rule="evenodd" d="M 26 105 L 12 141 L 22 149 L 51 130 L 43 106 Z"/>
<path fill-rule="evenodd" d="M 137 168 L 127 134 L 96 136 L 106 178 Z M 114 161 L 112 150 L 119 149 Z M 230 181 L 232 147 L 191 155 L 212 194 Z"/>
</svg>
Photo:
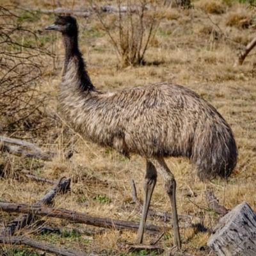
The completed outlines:
<svg viewBox="0 0 256 256">
<path fill-rule="evenodd" d="M 51 204 L 52 199 L 54 198 L 54 196 L 56 196 L 57 193 L 60 193 L 60 192 L 65 193 L 65 191 L 70 189 L 71 178 L 69 177 L 64 181 L 61 181 L 61 180 L 63 180 L 63 177 L 61 177 L 58 180 L 57 184 L 53 186 L 50 189 L 50 191 L 41 198 L 41 200 L 38 200 L 35 204 L 33 204 L 33 206 Z M 0 234 L 1 236 L 12 236 L 16 230 L 24 228 L 26 225 L 29 225 L 33 220 L 35 220 L 35 215 L 32 212 L 21 214 L 17 219 L 9 222 L 6 225 L 6 227 L 3 227 L 0 231 Z"/>
</svg>

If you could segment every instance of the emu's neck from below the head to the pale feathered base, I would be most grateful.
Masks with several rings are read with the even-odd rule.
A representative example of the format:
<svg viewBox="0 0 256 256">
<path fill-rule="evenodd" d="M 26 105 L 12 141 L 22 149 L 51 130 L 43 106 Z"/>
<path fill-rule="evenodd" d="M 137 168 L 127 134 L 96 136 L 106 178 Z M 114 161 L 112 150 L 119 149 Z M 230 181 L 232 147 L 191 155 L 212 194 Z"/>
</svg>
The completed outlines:
<svg viewBox="0 0 256 256">
<path fill-rule="evenodd" d="M 69 81 L 82 92 L 95 91 L 83 55 L 79 51 L 77 35 L 63 35 L 63 44 L 65 47 L 63 82 Z"/>
</svg>

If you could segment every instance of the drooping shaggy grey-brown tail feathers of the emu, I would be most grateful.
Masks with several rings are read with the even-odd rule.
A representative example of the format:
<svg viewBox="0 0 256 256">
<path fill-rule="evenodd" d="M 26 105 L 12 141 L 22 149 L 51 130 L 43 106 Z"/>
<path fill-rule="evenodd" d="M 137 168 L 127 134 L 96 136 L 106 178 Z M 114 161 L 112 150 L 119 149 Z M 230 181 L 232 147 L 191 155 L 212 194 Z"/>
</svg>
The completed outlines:
<svg viewBox="0 0 256 256">
<path fill-rule="evenodd" d="M 236 141 L 227 123 L 209 125 L 196 132 L 191 159 L 201 180 L 226 179 L 236 167 Z"/>
</svg>

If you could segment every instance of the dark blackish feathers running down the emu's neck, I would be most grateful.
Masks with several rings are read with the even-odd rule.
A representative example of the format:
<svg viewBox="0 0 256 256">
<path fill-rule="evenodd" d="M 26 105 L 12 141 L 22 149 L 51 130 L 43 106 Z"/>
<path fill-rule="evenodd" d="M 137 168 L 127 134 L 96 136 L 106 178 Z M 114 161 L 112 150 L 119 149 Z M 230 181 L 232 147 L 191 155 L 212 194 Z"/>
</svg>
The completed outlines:
<svg viewBox="0 0 256 256">
<path fill-rule="evenodd" d="M 95 91 L 90 76 L 86 70 L 86 64 L 83 60 L 83 54 L 78 47 L 78 32 L 72 35 L 63 34 L 63 44 L 65 47 L 65 63 L 63 77 L 68 72 L 68 65 L 76 65 L 77 86 L 82 92 Z M 72 63 L 71 63 L 72 62 Z M 73 72 L 74 69 L 72 68 Z"/>
</svg>

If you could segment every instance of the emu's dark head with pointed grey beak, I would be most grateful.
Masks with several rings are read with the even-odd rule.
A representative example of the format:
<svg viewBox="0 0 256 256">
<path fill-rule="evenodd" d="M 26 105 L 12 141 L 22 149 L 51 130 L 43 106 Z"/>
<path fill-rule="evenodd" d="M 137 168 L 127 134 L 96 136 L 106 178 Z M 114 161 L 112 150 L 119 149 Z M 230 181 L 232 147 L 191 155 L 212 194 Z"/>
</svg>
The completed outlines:
<svg viewBox="0 0 256 256">
<path fill-rule="evenodd" d="M 67 36 L 77 35 L 78 33 L 76 18 L 72 16 L 57 16 L 54 24 L 45 29 L 57 30 Z"/>
</svg>

